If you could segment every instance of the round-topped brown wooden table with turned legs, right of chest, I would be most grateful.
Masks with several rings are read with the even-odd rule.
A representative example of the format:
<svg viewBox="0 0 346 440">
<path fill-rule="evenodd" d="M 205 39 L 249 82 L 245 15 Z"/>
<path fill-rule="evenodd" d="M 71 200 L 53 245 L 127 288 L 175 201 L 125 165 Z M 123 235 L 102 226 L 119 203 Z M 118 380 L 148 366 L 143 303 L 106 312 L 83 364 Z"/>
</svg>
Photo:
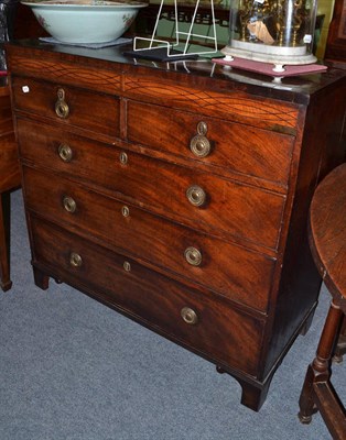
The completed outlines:
<svg viewBox="0 0 346 440">
<path fill-rule="evenodd" d="M 345 440 L 346 413 L 331 383 L 331 361 L 335 342 L 340 341 L 342 344 L 345 338 L 346 163 L 335 168 L 314 194 L 310 208 L 309 240 L 316 267 L 332 295 L 332 302 L 316 358 L 307 369 L 299 417 L 303 424 L 309 424 L 312 415 L 320 410 L 333 439 Z"/>
</svg>

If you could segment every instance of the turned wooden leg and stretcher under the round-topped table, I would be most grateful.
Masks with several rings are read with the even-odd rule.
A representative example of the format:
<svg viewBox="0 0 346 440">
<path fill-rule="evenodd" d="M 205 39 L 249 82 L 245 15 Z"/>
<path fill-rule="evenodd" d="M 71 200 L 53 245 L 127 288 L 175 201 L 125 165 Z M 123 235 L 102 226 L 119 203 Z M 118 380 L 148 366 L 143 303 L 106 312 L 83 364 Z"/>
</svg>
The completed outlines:
<svg viewBox="0 0 346 440">
<path fill-rule="evenodd" d="M 318 410 L 333 438 L 339 440 L 345 440 L 346 418 L 331 383 L 331 360 L 343 317 L 343 311 L 332 301 L 316 358 L 307 369 L 299 402 L 299 418 L 303 424 L 310 424 L 312 415 Z"/>
</svg>

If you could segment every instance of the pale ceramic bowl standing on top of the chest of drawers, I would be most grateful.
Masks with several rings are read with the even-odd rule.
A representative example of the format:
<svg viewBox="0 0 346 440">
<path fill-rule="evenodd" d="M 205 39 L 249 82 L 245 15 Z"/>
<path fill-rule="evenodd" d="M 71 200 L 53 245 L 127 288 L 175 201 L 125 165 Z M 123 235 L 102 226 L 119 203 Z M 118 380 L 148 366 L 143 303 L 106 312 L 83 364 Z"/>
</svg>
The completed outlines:
<svg viewBox="0 0 346 440">
<path fill-rule="evenodd" d="M 42 28 L 64 43 L 106 43 L 117 40 L 132 24 L 139 1 L 28 0 Z"/>
</svg>

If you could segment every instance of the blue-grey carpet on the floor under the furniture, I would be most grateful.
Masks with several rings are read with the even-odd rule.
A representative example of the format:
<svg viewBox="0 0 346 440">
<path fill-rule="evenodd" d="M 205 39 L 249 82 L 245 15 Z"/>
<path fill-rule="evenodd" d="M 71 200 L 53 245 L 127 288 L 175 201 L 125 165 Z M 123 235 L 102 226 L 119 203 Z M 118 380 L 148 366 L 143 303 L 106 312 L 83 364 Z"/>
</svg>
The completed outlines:
<svg viewBox="0 0 346 440">
<path fill-rule="evenodd" d="M 298 400 L 327 309 L 321 301 L 260 413 L 240 386 L 186 350 L 77 290 L 35 287 L 22 195 L 12 195 L 13 288 L 0 294 L 0 440 L 326 440 Z M 345 366 L 334 384 L 346 396 Z"/>
</svg>

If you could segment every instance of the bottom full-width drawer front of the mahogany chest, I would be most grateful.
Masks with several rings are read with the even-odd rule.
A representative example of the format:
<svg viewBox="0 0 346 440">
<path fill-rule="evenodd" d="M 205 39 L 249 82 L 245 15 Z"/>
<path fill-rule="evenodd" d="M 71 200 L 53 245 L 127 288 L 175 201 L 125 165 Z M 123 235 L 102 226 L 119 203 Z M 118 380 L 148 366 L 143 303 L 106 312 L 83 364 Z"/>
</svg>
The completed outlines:
<svg viewBox="0 0 346 440">
<path fill-rule="evenodd" d="M 208 359 L 256 375 L 261 321 L 33 217 L 31 226 L 34 264 Z M 196 314 L 197 322 L 182 318 L 194 322 L 193 312 L 184 308 Z"/>
</svg>

